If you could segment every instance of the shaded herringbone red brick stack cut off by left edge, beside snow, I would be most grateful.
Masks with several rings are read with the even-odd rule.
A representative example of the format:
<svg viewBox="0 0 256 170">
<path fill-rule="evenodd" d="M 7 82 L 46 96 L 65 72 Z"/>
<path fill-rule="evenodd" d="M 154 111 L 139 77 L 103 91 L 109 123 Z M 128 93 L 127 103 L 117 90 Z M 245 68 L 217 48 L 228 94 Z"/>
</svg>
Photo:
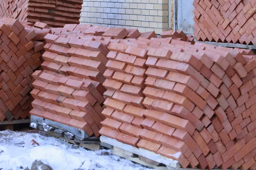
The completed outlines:
<svg viewBox="0 0 256 170">
<path fill-rule="evenodd" d="M 0 19 L 0 121 L 25 119 L 32 108 L 33 70 L 41 65 L 44 45 L 35 31 L 15 19 Z M 41 47 L 40 47 L 41 46 Z"/>
</svg>

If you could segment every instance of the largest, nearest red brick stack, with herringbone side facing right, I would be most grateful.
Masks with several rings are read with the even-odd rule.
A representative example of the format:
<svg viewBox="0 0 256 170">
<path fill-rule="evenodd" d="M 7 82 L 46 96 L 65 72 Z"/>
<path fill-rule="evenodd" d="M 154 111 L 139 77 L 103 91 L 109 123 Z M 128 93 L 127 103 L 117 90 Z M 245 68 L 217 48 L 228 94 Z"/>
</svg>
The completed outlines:
<svg viewBox="0 0 256 170">
<path fill-rule="evenodd" d="M 255 55 L 173 36 L 108 44 L 100 133 L 183 168 L 255 169 Z"/>
</svg>

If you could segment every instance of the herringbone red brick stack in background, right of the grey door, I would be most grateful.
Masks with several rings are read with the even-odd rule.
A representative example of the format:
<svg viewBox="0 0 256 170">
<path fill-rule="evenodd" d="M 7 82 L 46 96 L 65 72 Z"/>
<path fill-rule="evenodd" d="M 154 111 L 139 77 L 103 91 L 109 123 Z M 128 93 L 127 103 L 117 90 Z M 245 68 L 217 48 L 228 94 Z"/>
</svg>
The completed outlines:
<svg viewBox="0 0 256 170">
<path fill-rule="evenodd" d="M 193 5 L 197 40 L 256 43 L 255 0 L 195 0 Z"/>
</svg>

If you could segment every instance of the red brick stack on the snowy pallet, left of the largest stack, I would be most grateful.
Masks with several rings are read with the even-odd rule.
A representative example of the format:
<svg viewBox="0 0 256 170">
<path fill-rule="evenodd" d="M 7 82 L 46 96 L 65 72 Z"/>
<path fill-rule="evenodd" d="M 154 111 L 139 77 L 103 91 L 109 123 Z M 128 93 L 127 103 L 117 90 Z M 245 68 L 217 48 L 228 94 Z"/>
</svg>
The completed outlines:
<svg viewBox="0 0 256 170">
<path fill-rule="evenodd" d="M 99 29 L 101 30 L 97 31 Z M 86 131 L 89 136 L 99 136 L 99 129 L 102 127 L 100 122 L 105 119 L 102 107 L 106 90 L 102 84 L 107 76 L 103 74 L 109 71 L 109 50 L 106 46 L 109 47 L 111 42 L 117 45 L 122 42 L 139 46 L 139 42 L 142 42 L 140 39 L 152 37 L 151 40 L 145 40 L 154 42 L 153 40 L 157 39 L 156 34 L 140 34 L 138 30 L 124 28 L 73 24 L 67 24 L 64 28 L 51 28 L 51 31 L 52 34 L 44 37 L 47 43 L 42 55 L 43 71 L 35 71 L 32 74 L 35 89 L 31 95 L 35 100 L 32 102 L 33 109 L 30 113 L 77 127 Z M 89 35 L 86 35 L 85 31 Z M 167 41 L 171 41 L 172 33 L 175 38 L 182 38 L 180 34 L 183 32 L 167 32 Z M 122 40 L 125 37 L 129 39 Z M 138 40 L 135 39 L 137 37 Z M 188 37 L 184 38 L 189 40 Z M 145 59 L 137 59 L 137 62 L 138 66 L 145 66 Z M 141 79 L 139 76 L 137 78 L 139 83 Z M 140 105 L 142 106 L 142 103 Z"/>
</svg>

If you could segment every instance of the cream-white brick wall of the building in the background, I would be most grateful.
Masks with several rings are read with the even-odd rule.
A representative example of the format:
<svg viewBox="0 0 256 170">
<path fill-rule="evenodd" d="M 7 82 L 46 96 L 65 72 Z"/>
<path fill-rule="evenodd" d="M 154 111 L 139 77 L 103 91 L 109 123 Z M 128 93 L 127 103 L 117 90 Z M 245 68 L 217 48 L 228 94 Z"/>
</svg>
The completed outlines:
<svg viewBox="0 0 256 170">
<path fill-rule="evenodd" d="M 168 28 L 168 0 L 84 0 L 81 24 L 160 34 Z"/>
</svg>

